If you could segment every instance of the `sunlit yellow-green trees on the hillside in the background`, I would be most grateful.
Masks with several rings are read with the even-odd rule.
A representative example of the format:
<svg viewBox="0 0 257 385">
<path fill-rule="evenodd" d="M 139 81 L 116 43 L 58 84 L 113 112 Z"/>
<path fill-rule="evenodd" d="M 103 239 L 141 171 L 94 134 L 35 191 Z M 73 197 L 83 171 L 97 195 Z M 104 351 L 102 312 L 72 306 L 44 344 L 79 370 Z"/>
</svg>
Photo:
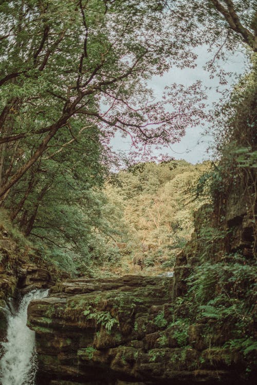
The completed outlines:
<svg viewBox="0 0 257 385">
<path fill-rule="evenodd" d="M 193 210 L 204 202 L 194 199 L 193 186 L 209 168 L 208 162 L 170 160 L 138 163 L 112 176 L 105 193 L 114 204 L 120 202 L 126 232 L 116 241 L 130 260 L 141 267 L 173 267 L 193 232 Z"/>
</svg>

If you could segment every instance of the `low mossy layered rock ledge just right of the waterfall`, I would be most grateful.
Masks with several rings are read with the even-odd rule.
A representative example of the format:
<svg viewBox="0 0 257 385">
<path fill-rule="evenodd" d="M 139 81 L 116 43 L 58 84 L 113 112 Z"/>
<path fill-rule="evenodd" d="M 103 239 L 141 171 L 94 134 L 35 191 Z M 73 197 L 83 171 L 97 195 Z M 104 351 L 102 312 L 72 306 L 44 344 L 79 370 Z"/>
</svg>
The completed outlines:
<svg viewBox="0 0 257 385">
<path fill-rule="evenodd" d="M 243 358 L 210 348 L 204 323 L 174 320 L 172 285 L 161 277 L 69 280 L 32 301 L 39 383 L 233 383 Z"/>
</svg>

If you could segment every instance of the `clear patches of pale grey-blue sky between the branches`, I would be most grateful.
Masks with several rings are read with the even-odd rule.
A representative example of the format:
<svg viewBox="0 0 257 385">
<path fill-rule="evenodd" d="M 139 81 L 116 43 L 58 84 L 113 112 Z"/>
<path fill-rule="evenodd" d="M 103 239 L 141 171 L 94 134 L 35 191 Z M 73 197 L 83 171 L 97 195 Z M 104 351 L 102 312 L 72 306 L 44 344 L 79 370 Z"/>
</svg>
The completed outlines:
<svg viewBox="0 0 257 385">
<path fill-rule="evenodd" d="M 221 97 L 221 94 L 216 91 L 218 84 L 218 79 L 210 79 L 209 73 L 203 69 L 205 63 L 212 59 L 213 53 L 207 51 L 206 46 L 201 46 L 196 49 L 198 55 L 197 66 L 194 69 L 185 68 L 179 69 L 173 67 L 169 72 L 163 76 L 154 76 L 149 82 L 149 86 L 154 90 L 156 100 L 161 99 L 161 94 L 164 90 L 164 87 L 172 84 L 179 83 L 185 86 L 189 86 L 194 83 L 196 80 L 203 82 L 204 86 L 209 87 L 207 95 L 208 100 L 207 104 L 210 106 L 213 102 L 218 101 Z M 224 63 L 224 69 L 234 72 L 235 74 L 244 73 L 246 68 L 246 57 L 243 52 L 237 51 L 231 55 L 226 63 Z M 233 83 L 235 83 L 236 76 L 230 78 L 229 86 L 232 88 Z M 226 86 L 228 87 L 228 86 Z M 221 89 L 221 87 L 219 87 Z M 211 151 L 208 151 L 211 143 L 213 142 L 212 137 L 205 135 L 204 132 L 208 127 L 193 127 L 188 128 L 186 135 L 181 139 L 179 143 L 172 144 L 170 148 L 163 148 L 160 151 L 154 151 L 153 155 L 160 156 L 161 154 L 168 154 L 170 157 L 175 159 L 185 159 L 190 163 L 199 163 L 204 160 L 211 158 Z M 124 151 L 128 152 L 130 150 L 130 142 L 124 140 L 119 136 L 112 140 L 112 146 L 115 151 Z"/>
</svg>

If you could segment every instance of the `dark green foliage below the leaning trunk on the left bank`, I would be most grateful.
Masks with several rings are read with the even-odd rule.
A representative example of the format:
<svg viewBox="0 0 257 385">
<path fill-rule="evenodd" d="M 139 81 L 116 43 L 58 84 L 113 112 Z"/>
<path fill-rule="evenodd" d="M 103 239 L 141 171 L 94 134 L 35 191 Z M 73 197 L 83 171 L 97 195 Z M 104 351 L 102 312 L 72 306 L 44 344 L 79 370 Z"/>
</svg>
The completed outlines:
<svg viewBox="0 0 257 385">
<path fill-rule="evenodd" d="M 57 150 L 54 157 L 41 158 L 5 202 L 11 219 L 24 234 L 34 243 L 47 246 L 43 256 L 46 253 L 70 272 L 79 266 L 83 269 L 93 249 L 99 257 L 94 244 L 98 236 L 94 233 L 107 228 L 101 218 L 106 200 L 99 190 L 105 172 L 100 164 L 101 146 L 96 133 L 91 134 L 69 152 Z M 54 142 L 58 143 L 58 137 Z"/>
</svg>

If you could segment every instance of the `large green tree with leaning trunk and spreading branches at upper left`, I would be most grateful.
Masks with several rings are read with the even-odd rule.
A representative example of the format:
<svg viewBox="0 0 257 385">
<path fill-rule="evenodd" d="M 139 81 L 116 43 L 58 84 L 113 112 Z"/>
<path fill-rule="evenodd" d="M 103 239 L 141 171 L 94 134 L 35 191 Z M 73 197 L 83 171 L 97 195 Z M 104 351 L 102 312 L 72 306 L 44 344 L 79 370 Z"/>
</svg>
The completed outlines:
<svg viewBox="0 0 257 385">
<path fill-rule="evenodd" d="M 183 41 L 167 44 L 172 32 L 163 6 L 148 0 L 2 2 L 3 199 L 44 152 L 51 154 L 57 132 L 68 130 L 70 139 L 79 139 L 84 127 L 97 124 L 105 140 L 121 130 L 138 148 L 138 141 L 143 147 L 177 141 L 188 125 L 199 123 L 204 114 L 198 83 L 167 90 L 162 104 L 150 101 L 145 86 L 177 57 L 181 65 L 194 59 L 190 51 L 181 54 Z M 174 110 L 167 112 L 171 98 Z"/>
</svg>

